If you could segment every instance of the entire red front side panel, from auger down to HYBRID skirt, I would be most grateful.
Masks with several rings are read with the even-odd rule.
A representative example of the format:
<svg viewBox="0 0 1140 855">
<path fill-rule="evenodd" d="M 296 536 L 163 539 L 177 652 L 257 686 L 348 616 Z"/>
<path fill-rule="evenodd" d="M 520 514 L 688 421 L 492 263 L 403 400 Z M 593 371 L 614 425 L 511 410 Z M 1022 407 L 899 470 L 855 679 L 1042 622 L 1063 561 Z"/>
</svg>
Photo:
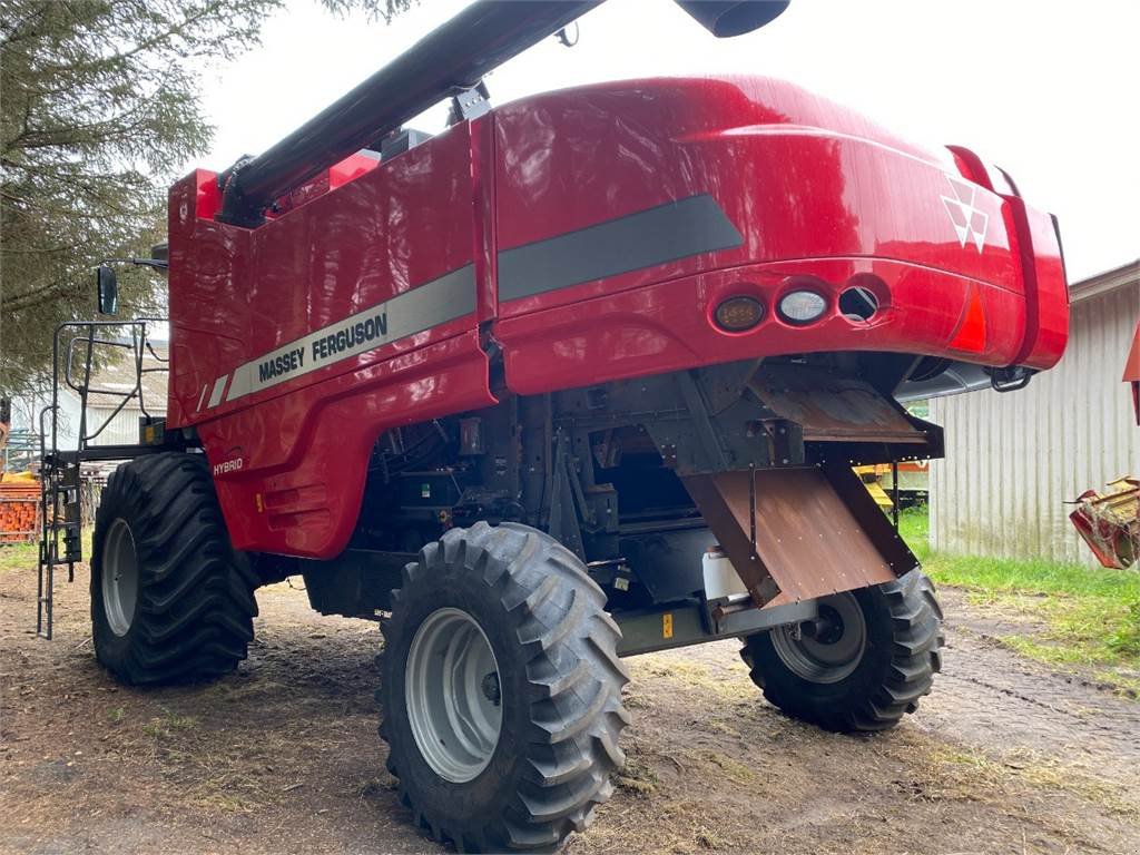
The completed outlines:
<svg viewBox="0 0 1140 855">
<path fill-rule="evenodd" d="M 494 404 L 471 156 L 463 123 L 253 230 L 172 190 L 172 397 L 238 548 L 339 553 L 383 430 Z"/>
</svg>

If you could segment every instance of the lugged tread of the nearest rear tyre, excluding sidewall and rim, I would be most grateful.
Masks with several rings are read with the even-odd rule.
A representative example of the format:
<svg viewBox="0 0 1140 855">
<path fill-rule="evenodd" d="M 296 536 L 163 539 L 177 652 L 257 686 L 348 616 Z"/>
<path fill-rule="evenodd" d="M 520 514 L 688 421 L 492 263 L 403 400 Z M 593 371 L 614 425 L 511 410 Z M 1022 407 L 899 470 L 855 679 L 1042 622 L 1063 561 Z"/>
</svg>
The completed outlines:
<svg viewBox="0 0 1140 855">
<path fill-rule="evenodd" d="M 625 763 L 618 738 L 629 722 L 621 703 L 629 676 L 616 652 L 620 630 L 602 611 L 605 596 L 577 557 L 540 531 L 486 522 L 453 529 L 405 569 L 405 589 L 455 562 L 488 586 L 504 619 L 513 621 L 526 657 L 531 710 L 531 732 L 521 734 L 520 744 L 532 754 L 521 758 L 526 771 L 502 816 L 486 817 L 478 828 L 457 828 L 430 805 L 417 804 L 400 777 L 394 746 L 388 771 L 398 779 L 400 800 L 416 822 L 461 852 L 554 850 L 609 800 L 610 775 Z M 399 593 L 393 592 L 391 619 L 381 625 L 385 651 L 408 632 L 401 625 Z M 385 676 L 392 673 L 384 670 Z M 386 700 L 383 687 L 378 695 Z M 391 743 L 389 715 L 385 709 L 380 733 Z"/>
</svg>

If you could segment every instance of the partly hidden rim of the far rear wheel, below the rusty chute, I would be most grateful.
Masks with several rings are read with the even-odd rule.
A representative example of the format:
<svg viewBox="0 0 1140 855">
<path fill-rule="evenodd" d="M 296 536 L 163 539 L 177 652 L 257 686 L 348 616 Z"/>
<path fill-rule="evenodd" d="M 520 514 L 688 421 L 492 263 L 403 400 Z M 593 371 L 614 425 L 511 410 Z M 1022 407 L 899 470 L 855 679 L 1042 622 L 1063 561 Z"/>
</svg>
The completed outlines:
<svg viewBox="0 0 1140 855">
<path fill-rule="evenodd" d="M 772 646 L 789 670 L 811 683 L 838 683 L 854 671 L 866 650 L 866 620 L 850 593 L 820 600 L 820 637 L 805 626 L 772 630 Z M 799 637 L 797 636 L 799 629 Z"/>
</svg>

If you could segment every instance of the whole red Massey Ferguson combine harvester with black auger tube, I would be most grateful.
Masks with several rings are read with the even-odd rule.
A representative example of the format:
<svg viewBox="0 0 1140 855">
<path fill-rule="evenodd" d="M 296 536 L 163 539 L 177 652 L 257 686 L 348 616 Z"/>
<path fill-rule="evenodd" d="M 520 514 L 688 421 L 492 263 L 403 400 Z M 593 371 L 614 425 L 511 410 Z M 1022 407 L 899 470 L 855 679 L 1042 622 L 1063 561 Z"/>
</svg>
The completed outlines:
<svg viewBox="0 0 1140 855">
<path fill-rule="evenodd" d="M 96 518 L 99 661 L 230 671 L 254 589 L 303 576 L 320 612 L 380 620 L 389 769 L 463 850 L 591 822 L 625 656 L 739 637 L 791 716 L 913 712 L 940 612 L 852 466 L 939 457 L 898 400 L 1024 385 L 1067 335 L 1053 220 L 966 148 L 759 78 L 491 108 L 483 75 L 594 5 L 477 2 L 176 184 L 165 422 L 48 456 L 44 612 L 79 464 L 127 459 Z M 681 5 L 716 35 L 783 8 Z M 446 131 L 404 128 L 443 98 Z M 71 355 L 122 340 L 78 326 L 85 389 Z"/>
</svg>

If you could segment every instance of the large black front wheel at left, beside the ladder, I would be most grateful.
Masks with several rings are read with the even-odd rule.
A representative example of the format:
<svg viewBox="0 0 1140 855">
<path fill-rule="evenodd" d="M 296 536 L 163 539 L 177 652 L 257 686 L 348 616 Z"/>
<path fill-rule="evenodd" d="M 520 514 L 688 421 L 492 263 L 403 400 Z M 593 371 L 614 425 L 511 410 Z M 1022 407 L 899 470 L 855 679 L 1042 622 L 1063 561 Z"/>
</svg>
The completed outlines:
<svg viewBox="0 0 1140 855">
<path fill-rule="evenodd" d="M 164 453 L 112 473 L 96 513 L 96 658 L 124 683 L 217 677 L 245 659 L 258 579 L 230 547 L 203 455 Z"/>
</svg>

